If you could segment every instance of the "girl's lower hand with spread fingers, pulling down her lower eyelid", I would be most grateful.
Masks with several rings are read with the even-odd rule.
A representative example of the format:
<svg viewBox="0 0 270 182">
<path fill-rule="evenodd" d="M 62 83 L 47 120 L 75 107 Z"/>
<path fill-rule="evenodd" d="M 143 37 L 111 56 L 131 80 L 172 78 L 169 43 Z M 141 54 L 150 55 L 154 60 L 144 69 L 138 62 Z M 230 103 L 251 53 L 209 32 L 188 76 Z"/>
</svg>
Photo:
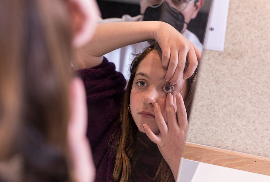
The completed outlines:
<svg viewBox="0 0 270 182">
<path fill-rule="evenodd" d="M 176 103 L 178 122 L 174 110 L 173 95 L 169 93 L 166 98 L 166 117 L 168 124 L 164 121 L 159 104 L 156 103 L 154 105 L 156 123 L 160 130 L 159 135 L 155 135 L 147 124 L 143 124 L 145 134 L 152 142 L 157 144 L 161 155 L 170 166 L 175 179 L 178 173 L 188 126 L 187 113 L 181 93 L 176 94 Z"/>
</svg>

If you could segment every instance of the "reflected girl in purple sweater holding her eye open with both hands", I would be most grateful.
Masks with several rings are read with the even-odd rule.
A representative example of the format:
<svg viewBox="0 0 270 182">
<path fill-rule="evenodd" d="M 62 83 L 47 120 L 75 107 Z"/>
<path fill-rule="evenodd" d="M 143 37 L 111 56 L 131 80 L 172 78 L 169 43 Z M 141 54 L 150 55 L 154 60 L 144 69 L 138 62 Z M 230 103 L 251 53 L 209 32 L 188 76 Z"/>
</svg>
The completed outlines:
<svg viewBox="0 0 270 182">
<path fill-rule="evenodd" d="M 159 44 L 132 61 L 125 90 L 124 76 L 103 55 L 153 39 Z M 98 25 L 73 61 L 87 92 L 96 181 L 176 180 L 200 57 L 193 43 L 164 22 Z"/>
</svg>

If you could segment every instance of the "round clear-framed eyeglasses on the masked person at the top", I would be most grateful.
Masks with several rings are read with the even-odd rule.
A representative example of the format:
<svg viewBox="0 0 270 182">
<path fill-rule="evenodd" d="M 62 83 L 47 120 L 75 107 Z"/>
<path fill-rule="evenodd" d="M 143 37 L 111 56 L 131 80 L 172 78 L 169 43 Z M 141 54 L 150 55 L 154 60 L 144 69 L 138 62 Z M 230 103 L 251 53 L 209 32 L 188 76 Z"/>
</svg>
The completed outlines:
<svg viewBox="0 0 270 182">
<path fill-rule="evenodd" d="M 164 0 L 146 0 L 146 4 L 152 8 L 161 6 Z M 168 0 L 170 8 L 175 12 L 181 12 L 187 8 L 187 6 L 196 0 Z"/>
</svg>

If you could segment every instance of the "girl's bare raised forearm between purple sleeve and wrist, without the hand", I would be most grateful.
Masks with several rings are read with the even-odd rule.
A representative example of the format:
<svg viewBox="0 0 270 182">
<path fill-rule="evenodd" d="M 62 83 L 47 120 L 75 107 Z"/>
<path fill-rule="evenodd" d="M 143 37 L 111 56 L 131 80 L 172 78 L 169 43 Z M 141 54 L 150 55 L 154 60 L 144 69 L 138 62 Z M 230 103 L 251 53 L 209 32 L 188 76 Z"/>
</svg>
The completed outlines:
<svg viewBox="0 0 270 182">
<path fill-rule="evenodd" d="M 91 68 L 102 61 L 102 56 L 115 49 L 155 39 L 163 22 L 112 22 L 99 24 L 93 39 L 77 51 L 75 69 Z"/>
</svg>

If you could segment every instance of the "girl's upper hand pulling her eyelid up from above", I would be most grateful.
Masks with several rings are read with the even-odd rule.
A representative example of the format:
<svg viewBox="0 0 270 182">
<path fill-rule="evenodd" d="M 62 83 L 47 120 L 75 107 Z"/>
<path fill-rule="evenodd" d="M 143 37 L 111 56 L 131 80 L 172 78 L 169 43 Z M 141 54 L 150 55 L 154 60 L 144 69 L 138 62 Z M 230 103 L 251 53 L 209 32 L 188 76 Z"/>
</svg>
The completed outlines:
<svg viewBox="0 0 270 182">
<path fill-rule="evenodd" d="M 168 67 L 165 79 L 174 85 L 181 77 L 188 59 L 189 66 L 183 79 L 190 77 L 201 58 L 200 51 L 171 25 L 160 23 L 155 39 L 162 51 L 162 66 Z"/>
</svg>

